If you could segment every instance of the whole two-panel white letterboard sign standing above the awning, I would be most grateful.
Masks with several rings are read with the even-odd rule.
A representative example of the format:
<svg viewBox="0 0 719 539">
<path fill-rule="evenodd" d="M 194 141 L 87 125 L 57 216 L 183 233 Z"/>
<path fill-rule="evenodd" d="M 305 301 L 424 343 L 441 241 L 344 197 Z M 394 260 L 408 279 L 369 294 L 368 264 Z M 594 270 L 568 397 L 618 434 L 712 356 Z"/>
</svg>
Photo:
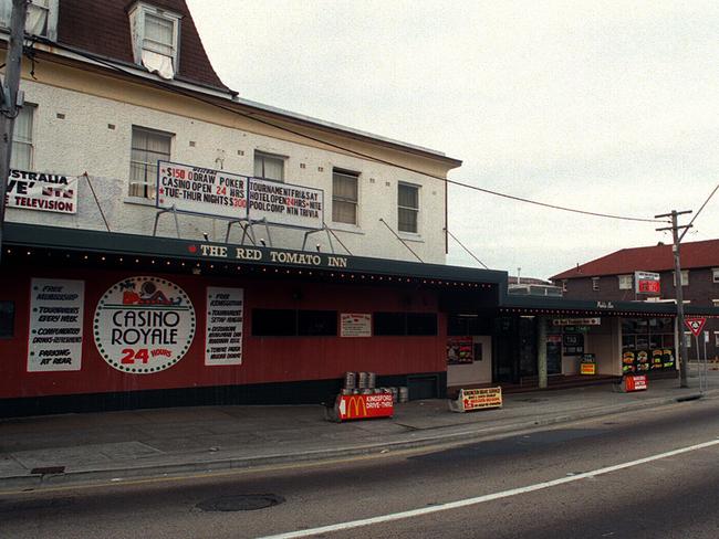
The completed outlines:
<svg viewBox="0 0 719 539">
<path fill-rule="evenodd" d="M 260 178 L 158 161 L 157 208 L 225 219 L 322 229 L 324 191 Z"/>
</svg>

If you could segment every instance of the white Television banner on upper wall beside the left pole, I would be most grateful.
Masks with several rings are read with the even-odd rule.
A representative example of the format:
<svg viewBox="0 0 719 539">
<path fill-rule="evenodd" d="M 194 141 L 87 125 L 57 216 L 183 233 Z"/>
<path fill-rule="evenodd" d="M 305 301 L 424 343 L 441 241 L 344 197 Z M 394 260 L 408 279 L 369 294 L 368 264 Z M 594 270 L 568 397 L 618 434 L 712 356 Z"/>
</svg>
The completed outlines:
<svg viewBox="0 0 719 539">
<path fill-rule="evenodd" d="M 74 176 L 10 170 L 6 204 L 20 210 L 77 213 L 77 183 Z"/>
</svg>

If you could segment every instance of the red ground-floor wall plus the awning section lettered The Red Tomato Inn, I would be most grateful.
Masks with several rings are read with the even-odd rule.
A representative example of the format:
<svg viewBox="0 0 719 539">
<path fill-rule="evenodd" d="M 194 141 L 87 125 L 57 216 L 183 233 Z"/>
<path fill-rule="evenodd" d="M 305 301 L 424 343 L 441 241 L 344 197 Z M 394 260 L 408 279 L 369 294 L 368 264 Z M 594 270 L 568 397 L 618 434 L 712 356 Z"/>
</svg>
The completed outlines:
<svg viewBox="0 0 719 539">
<path fill-rule="evenodd" d="M 444 397 L 447 317 L 503 272 L 6 223 L 2 415 Z"/>
</svg>

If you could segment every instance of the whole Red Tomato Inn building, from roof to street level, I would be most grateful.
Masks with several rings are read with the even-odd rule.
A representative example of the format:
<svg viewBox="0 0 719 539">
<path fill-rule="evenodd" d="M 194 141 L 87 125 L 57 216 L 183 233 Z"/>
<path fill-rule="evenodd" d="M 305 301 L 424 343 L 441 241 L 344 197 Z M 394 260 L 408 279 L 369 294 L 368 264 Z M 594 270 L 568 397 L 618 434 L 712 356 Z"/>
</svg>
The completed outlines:
<svg viewBox="0 0 719 539">
<path fill-rule="evenodd" d="M 185 0 L 87 4 L 25 29 L 0 415 L 329 402 L 346 371 L 442 398 L 670 349 L 669 306 L 512 298 L 506 272 L 446 265 L 460 160 L 244 99 Z"/>
</svg>

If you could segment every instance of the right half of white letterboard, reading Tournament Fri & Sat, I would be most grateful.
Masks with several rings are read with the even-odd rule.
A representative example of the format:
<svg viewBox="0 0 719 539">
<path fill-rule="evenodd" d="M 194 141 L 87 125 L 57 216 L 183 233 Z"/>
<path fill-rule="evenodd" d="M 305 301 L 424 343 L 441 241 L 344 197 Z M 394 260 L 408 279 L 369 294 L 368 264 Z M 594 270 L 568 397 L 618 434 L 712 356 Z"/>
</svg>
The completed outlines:
<svg viewBox="0 0 719 539">
<path fill-rule="evenodd" d="M 252 220 L 320 230 L 324 223 L 324 191 L 252 178 L 249 213 Z"/>
</svg>

